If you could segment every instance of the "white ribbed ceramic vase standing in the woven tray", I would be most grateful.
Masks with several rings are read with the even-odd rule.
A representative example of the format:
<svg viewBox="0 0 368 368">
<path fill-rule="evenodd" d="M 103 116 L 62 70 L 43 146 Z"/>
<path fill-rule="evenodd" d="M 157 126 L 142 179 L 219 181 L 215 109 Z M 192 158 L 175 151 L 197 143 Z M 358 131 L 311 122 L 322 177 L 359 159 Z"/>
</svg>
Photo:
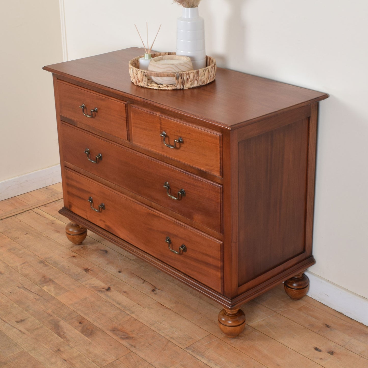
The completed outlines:
<svg viewBox="0 0 368 368">
<path fill-rule="evenodd" d="M 177 21 L 176 54 L 189 56 L 193 69 L 206 67 L 205 22 L 197 8 L 183 8 Z"/>
</svg>

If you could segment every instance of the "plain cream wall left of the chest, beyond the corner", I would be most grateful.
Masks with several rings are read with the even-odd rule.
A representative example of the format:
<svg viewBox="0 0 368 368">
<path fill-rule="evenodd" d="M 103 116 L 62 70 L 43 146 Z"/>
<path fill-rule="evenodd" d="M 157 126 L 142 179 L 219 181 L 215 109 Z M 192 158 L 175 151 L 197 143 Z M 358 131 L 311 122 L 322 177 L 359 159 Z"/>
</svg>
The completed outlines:
<svg viewBox="0 0 368 368">
<path fill-rule="evenodd" d="M 0 40 L 0 182 L 60 162 L 52 77 L 63 61 L 59 0 L 4 1 Z"/>
</svg>

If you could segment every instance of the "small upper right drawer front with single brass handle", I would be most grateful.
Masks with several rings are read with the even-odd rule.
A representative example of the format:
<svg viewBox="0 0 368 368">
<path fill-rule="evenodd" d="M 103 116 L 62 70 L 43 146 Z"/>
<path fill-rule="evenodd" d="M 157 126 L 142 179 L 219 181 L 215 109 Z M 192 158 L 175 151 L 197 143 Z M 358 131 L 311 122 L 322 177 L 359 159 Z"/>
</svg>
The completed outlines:
<svg viewBox="0 0 368 368">
<path fill-rule="evenodd" d="M 220 175 L 221 134 L 209 132 L 152 114 L 136 107 L 132 111 L 132 139 L 139 146 Z M 160 134 L 166 133 L 166 137 Z M 175 140 L 182 143 L 175 142 Z M 166 144 L 174 146 L 169 148 Z"/>
</svg>

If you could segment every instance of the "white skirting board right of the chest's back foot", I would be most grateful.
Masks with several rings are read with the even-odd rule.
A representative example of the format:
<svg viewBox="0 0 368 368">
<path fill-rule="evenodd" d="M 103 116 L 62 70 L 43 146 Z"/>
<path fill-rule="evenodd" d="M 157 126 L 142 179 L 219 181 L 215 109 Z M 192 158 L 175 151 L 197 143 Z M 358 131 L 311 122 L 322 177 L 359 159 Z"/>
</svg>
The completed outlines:
<svg viewBox="0 0 368 368">
<path fill-rule="evenodd" d="M 305 272 L 309 277 L 307 295 L 336 311 L 368 326 L 368 299 L 352 293 L 321 276 Z"/>
</svg>

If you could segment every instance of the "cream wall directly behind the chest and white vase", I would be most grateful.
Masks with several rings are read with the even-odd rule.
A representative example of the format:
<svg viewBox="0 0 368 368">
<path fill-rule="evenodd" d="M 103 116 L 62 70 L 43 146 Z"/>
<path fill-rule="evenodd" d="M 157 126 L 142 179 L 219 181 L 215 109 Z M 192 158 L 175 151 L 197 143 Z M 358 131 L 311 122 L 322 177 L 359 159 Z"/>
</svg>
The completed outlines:
<svg viewBox="0 0 368 368">
<path fill-rule="evenodd" d="M 171 0 L 64 0 L 69 59 L 140 46 L 175 49 Z M 153 5 L 154 4 L 154 5 Z M 368 26 L 365 0 L 202 0 L 207 54 L 219 66 L 327 92 L 321 103 L 309 270 L 368 298 Z"/>
</svg>

